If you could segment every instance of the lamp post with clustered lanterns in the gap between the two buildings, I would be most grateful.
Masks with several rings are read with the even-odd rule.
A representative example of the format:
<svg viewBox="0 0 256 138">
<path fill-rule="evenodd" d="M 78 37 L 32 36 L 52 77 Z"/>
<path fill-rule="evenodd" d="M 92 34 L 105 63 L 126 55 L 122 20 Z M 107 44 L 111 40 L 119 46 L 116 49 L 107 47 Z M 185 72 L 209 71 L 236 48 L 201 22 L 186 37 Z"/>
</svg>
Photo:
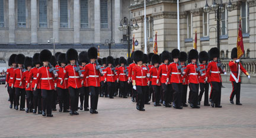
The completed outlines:
<svg viewBox="0 0 256 138">
<path fill-rule="evenodd" d="M 133 21 L 136 22 L 135 25 L 133 25 Z M 133 30 L 138 30 L 139 29 L 139 25 L 137 24 L 137 20 L 135 19 L 128 19 L 126 17 L 124 17 L 121 21 L 120 21 L 120 26 L 119 26 L 119 30 L 123 31 L 123 30 L 127 30 L 126 36 L 127 36 L 127 41 L 128 41 L 128 57 L 130 57 L 130 36 L 131 36 L 131 31 Z"/>
</svg>

